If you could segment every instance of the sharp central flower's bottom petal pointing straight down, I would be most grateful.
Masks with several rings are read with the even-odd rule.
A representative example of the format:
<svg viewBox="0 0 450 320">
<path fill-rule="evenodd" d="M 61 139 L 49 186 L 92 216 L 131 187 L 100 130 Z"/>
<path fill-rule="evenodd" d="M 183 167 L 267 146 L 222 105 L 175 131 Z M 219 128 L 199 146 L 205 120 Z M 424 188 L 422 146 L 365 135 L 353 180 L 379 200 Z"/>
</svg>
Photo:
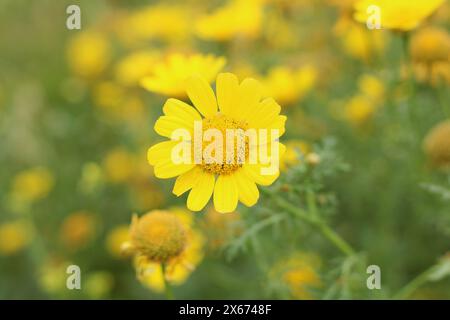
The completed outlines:
<svg viewBox="0 0 450 320">
<path fill-rule="evenodd" d="M 217 212 L 228 213 L 236 210 L 238 190 L 233 175 L 220 175 L 217 178 L 213 200 Z"/>
</svg>

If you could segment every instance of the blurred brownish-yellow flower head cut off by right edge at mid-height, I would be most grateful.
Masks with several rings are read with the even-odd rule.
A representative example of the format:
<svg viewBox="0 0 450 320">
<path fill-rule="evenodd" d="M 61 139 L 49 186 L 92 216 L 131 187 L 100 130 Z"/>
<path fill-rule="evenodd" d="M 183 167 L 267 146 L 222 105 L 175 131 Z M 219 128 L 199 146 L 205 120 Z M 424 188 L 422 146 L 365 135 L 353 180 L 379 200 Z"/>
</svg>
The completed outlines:
<svg viewBox="0 0 450 320">
<path fill-rule="evenodd" d="M 423 147 L 433 165 L 450 168 L 450 120 L 434 126 L 425 137 Z"/>
</svg>

